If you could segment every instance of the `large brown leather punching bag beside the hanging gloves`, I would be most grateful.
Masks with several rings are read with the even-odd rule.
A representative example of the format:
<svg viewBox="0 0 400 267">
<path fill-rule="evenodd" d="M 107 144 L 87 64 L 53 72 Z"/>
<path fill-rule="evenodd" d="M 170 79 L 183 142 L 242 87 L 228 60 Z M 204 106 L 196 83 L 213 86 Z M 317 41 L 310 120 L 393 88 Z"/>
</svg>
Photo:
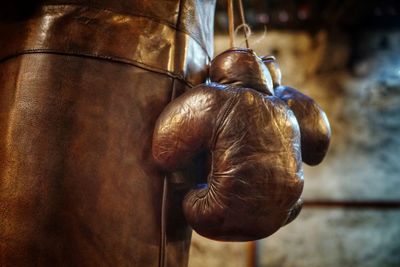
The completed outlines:
<svg viewBox="0 0 400 267">
<path fill-rule="evenodd" d="M 187 265 L 185 188 L 164 179 L 151 139 L 168 102 L 206 78 L 214 2 L 6 5 L 1 266 Z"/>
</svg>

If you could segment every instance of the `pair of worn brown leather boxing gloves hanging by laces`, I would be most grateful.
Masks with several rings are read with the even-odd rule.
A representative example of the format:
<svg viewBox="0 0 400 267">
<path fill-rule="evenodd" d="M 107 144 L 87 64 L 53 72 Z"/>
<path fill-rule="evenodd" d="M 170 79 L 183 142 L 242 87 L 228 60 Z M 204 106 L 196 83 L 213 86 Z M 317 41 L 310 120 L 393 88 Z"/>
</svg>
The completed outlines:
<svg viewBox="0 0 400 267">
<path fill-rule="evenodd" d="M 166 172 L 185 173 L 193 164 L 207 170 L 205 186 L 194 185 L 182 203 L 196 232 L 249 241 L 273 234 L 298 215 L 302 161 L 320 163 L 330 134 L 314 100 L 281 86 L 273 57 L 235 48 L 211 62 L 209 82 L 165 108 L 152 152 Z M 200 154 L 207 159 L 196 162 Z"/>
</svg>

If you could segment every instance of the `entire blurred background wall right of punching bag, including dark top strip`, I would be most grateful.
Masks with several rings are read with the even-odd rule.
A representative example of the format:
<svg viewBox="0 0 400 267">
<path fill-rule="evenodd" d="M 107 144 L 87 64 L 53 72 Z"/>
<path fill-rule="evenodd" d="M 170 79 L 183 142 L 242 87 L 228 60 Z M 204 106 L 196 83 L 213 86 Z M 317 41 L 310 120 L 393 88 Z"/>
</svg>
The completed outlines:
<svg viewBox="0 0 400 267">
<path fill-rule="evenodd" d="M 275 55 L 283 84 L 323 107 L 332 143 L 321 165 L 304 165 L 306 205 L 294 222 L 255 245 L 194 234 L 189 266 L 400 266 L 398 1 L 244 6 L 251 48 Z M 224 1 L 216 12 L 218 54 L 229 46 Z"/>
</svg>

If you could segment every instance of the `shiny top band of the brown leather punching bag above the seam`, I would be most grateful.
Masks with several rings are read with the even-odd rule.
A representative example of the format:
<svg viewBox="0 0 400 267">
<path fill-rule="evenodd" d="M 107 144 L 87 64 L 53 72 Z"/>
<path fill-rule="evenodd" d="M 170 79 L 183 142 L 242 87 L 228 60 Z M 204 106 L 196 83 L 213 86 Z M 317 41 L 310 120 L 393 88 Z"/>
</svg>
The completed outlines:
<svg viewBox="0 0 400 267">
<path fill-rule="evenodd" d="M 208 37 L 212 33 L 212 0 L 202 4 L 131 1 L 121 7 L 124 1 L 48 2 L 32 7 L 33 14 L 23 19 L 8 18 L 0 23 L 4 38 L 0 59 L 24 53 L 103 58 L 165 73 L 189 85 L 201 83 L 206 75 L 204 66 L 212 55 Z M 67 4 L 61 4 L 64 2 Z M 173 3 L 174 16 L 167 8 Z M 126 6 L 130 8 L 122 12 Z M 151 7 L 165 11 L 157 17 L 140 15 Z M 127 13 L 135 10 L 139 15 Z"/>
</svg>

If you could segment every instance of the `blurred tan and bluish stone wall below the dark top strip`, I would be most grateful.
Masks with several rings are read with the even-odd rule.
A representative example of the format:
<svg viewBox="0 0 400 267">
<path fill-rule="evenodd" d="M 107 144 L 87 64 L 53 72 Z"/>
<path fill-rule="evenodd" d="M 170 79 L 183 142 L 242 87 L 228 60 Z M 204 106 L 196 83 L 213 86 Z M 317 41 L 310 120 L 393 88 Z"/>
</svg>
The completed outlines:
<svg viewBox="0 0 400 267">
<path fill-rule="evenodd" d="M 217 36 L 216 53 L 228 43 Z M 274 54 L 283 83 L 316 99 L 331 121 L 326 160 L 305 166 L 304 198 L 400 200 L 400 32 L 273 31 L 255 34 L 251 47 Z M 400 210 L 306 207 L 257 244 L 263 267 L 400 266 Z M 247 250 L 194 235 L 189 266 L 246 266 Z"/>
</svg>

